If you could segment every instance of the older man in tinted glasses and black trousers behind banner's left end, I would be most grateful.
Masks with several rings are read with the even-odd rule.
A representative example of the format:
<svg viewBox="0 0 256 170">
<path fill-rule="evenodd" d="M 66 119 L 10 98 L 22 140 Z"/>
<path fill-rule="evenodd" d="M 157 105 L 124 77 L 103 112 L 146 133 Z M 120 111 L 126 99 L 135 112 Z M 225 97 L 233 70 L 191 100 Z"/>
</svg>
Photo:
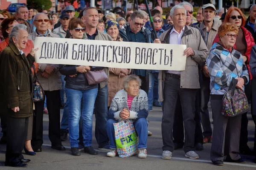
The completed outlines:
<svg viewBox="0 0 256 170">
<path fill-rule="evenodd" d="M 38 13 L 33 19 L 36 30 L 29 34 L 29 40 L 35 43 L 35 37 L 57 37 L 60 36 L 48 29 L 49 18 L 44 13 Z M 52 142 L 52 148 L 56 150 L 65 150 L 61 144 L 61 125 L 60 125 L 60 90 L 61 74 L 58 71 L 58 65 L 42 64 L 38 66 L 38 80 L 40 81 L 44 94 L 47 97 L 47 109 L 49 113 L 49 139 Z M 41 152 L 43 144 L 43 113 L 44 101 L 35 103 L 35 114 L 33 120 L 32 147 L 35 152 Z"/>
</svg>

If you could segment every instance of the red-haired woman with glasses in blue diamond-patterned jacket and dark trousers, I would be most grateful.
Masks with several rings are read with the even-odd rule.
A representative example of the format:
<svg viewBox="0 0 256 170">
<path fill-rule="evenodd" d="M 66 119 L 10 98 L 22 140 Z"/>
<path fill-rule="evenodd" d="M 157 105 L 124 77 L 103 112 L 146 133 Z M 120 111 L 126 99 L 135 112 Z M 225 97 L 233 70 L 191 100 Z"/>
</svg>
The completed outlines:
<svg viewBox="0 0 256 170">
<path fill-rule="evenodd" d="M 222 24 L 218 29 L 219 42 L 212 45 L 206 60 L 211 78 L 210 94 L 214 122 L 211 160 L 215 165 L 223 165 L 225 144 L 228 146 L 226 161 L 247 162 L 238 154 L 241 115 L 227 117 L 221 114 L 222 98 L 228 91 L 232 78 L 236 79 L 236 88 L 241 90 L 244 90 L 244 85 L 249 82 L 249 72 L 242 55 L 233 48 L 237 36 L 238 28 L 234 23 Z"/>
</svg>

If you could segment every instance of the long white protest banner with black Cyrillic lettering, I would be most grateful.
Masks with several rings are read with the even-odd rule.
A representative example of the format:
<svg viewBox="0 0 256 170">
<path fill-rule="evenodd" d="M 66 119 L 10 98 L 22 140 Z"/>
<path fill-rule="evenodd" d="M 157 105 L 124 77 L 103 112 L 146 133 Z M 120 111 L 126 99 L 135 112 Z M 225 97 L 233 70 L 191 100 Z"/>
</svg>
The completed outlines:
<svg viewBox="0 0 256 170">
<path fill-rule="evenodd" d="M 183 71 L 186 45 L 36 37 L 35 62 Z"/>
</svg>

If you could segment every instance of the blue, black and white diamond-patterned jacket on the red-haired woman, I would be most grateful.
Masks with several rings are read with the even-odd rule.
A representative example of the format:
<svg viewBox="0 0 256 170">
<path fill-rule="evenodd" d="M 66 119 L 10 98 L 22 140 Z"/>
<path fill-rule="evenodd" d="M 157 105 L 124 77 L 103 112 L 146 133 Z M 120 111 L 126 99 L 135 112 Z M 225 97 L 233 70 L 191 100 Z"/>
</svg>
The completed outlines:
<svg viewBox="0 0 256 170">
<path fill-rule="evenodd" d="M 228 91 L 232 78 L 245 77 L 249 82 L 249 72 L 241 53 L 233 49 L 231 53 L 219 43 L 214 43 L 207 57 L 211 78 L 211 94 L 224 94 Z"/>
</svg>

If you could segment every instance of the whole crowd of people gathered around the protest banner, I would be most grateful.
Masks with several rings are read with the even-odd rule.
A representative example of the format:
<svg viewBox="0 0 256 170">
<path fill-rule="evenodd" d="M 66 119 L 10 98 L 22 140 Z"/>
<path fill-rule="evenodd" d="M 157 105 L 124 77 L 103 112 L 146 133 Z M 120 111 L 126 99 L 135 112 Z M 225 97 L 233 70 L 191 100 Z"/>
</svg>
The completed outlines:
<svg viewBox="0 0 256 170">
<path fill-rule="evenodd" d="M 98 154 L 92 147 L 93 114 L 99 150 L 108 151 L 109 157 L 118 155 L 113 123 L 131 119 L 139 138 L 138 157 L 146 158 L 152 135 L 147 117 L 153 106 L 163 110 L 162 159 L 171 159 L 179 148 L 185 157 L 199 159 L 195 151 L 204 150 L 208 142 L 215 165 L 223 165 L 224 156 L 238 163 L 247 162 L 239 153 L 256 156 L 255 138 L 254 152 L 247 145 L 247 113 L 221 115 L 222 98 L 235 78 L 236 88 L 251 102 L 256 124 L 256 5 L 250 7 L 247 20 L 239 8 L 217 12 L 209 3 L 199 8 L 194 21 L 193 6 L 187 2 L 172 7 L 165 18 L 157 6 L 151 10 L 152 23 L 147 12 L 125 13 L 120 7 L 104 15 L 94 7 L 70 5 L 60 16 L 48 14 L 26 6 L 18 6 L 12 17 L 8 11 L 0 14 L 0 143 L 6 144 L 6 166 L 26 167 L 30 160 L 24 159 L 23 149 L 32 156 L 42 151 L 44 114 L 49 115 L 51 147 L 65 150 L 61 142 L 69 136 L 73 156 L 80 156 L 81 150 Z M 163 71 L 38 64 L 33 57 L 36 37 L 181 44 L 186 45 L 186 67 Z M 88 71 L 102 71 L 108 80 L 89 84 L 84 76 Z M 32 101 L 35 74 L 45 94 L 39 102 Z"/>
</svg>

